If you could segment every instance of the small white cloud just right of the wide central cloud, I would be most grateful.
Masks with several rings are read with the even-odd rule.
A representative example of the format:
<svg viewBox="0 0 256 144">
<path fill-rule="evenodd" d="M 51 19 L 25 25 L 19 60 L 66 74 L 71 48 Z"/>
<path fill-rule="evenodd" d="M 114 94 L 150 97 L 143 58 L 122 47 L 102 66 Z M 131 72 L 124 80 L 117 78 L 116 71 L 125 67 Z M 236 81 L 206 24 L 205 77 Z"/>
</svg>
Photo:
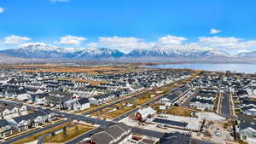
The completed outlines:
<svg viewBox="0 0 256 144">
<path fill-rule="evenodd" d="M 183 41 L 187 40 L 185 37 L 176 37 L 167 35 L 165 37 L 158 38 L 158 43 L 163 45 L 177 45 L 181 44 Z"/>
</svg>

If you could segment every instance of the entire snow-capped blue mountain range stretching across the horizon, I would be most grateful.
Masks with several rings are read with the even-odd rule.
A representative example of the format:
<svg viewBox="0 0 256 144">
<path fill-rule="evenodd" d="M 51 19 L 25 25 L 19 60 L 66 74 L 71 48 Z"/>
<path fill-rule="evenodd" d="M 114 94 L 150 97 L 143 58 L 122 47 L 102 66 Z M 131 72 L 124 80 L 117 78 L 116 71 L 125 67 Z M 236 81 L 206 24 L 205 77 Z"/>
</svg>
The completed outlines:
<svg viewBox="0 0 256 144">
<path fill-rule="evenodd" d="M 178 48 L 155 46 L 150 49 L 134 49 L 125 54 L 118 49 L 74 49 L 55 47 L 44 43 L 25 43 L 17 49 L 0 50 L 0 59 L 3 60 L 3 57 L 9 58 L 8 60 L 244 61 L 256 59 L 256 51 L 229 55 L 216 49 L 189 44 Z"/>
</svg>

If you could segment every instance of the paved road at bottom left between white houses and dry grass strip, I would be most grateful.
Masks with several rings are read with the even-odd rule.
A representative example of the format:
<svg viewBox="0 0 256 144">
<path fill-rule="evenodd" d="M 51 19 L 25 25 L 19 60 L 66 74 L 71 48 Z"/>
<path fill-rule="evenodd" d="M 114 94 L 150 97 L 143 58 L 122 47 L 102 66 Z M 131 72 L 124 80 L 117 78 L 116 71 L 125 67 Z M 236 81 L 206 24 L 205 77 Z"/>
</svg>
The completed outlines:
<svg viewBox="0 0 256 144">
<path fill-rule="evenodd" d="M 15 141 L 19 141 L 19 140 L 21 140 L 21 139 L 23 139 L 23 138 L 26 138 L 26 137 L 29 137 L 29 136 L 38 134 L 39 132 L 42 132 L 42 131 L 44 131 L 44 130 L 49 130 L 49 129 L 51 129 L 51 128 L 54 128 L 55 126 L 58 126 L 58 125 L 61 125 L 61 124 L 65 124 L 65 123 L 67 123 L 67 122 L 68 122 L 68 121 L 65 120 L 65 121 L 62 121 L 62 122 L 57 123 L 57 124 L 50 124 L 49 126 L 46 126 L 46 127 L 42 128 L 42 129 L 34 130 L 34 131 L 29 132 L 29 133 L 27 133 L 27 134 L 25 134 L 25 135 L 16 136 L 16 137 L 13 138 L 13 139 L 10 139 L 10 140 L 8 140 L 8 141 L 2 142 L 2 144 L 10 144 L 10 143 L 13 143 L 13 142 L 15 142 Z"/>
</svg>

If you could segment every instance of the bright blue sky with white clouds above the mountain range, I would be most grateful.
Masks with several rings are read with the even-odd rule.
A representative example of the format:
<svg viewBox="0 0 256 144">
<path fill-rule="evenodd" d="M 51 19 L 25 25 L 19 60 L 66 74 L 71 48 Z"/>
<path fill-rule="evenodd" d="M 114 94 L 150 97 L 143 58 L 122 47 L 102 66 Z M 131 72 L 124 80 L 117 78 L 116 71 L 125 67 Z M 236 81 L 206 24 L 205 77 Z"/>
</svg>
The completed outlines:
<svg viewBox="0 0 256 144">
<path fill-rule="evenodd" d="M 255 5 L 254 0 L 1 0 L 0 49 L 40 42 L 129 51 L 196 43 L 236 54 L 256 50 Z"/>
</svg>

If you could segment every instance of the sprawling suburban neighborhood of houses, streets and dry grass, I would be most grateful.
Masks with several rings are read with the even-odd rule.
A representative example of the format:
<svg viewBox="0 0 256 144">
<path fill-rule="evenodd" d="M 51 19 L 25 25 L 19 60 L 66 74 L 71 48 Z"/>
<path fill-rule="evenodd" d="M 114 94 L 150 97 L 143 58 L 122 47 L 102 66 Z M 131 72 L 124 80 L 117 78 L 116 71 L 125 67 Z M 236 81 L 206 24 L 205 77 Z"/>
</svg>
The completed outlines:
<svg viewBox="0 0 256 144">
<path fill-rule="evenodd" d="M 3 144 L 256 142 L 253 75 L 42 65 L 0 79 Z"/>
</svg>

